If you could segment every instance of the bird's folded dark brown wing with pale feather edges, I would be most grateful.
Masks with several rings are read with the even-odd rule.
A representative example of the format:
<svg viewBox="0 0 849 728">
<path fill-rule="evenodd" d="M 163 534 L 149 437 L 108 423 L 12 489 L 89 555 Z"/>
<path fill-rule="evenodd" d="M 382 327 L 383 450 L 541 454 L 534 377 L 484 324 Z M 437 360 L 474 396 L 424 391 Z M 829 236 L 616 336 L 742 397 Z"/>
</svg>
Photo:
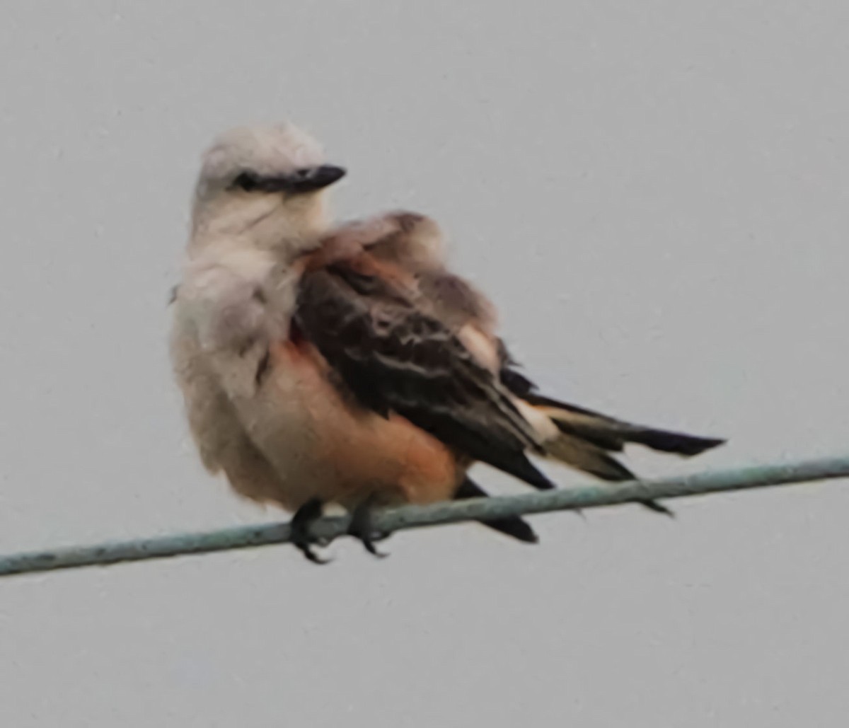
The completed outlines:
<svg viewBox="0 0 849 728">
<path fill-rule="evenodd" d="M 498 376 L 417 305 L 409 277 L 363 252 L 307 267 L 295 327 L 360 406 L 390 412 L 455 451 L 537 487 L 553 487 L 526 456 L 541 443 Z"/>
</svg>

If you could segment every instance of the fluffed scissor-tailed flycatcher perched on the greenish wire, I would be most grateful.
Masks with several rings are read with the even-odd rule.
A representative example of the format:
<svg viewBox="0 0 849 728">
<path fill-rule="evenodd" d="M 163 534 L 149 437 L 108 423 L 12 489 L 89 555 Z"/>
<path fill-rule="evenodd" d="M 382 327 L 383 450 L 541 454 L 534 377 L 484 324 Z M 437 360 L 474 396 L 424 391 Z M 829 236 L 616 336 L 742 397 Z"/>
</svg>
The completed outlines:
<svg viewBox="0 0 849 728">
<path fill-rule="evenodd" d="M 326 502 L 374 552 L 375 504 L 486 495 L 486 462 L 537 488 L 545 456 L 622 480 L 627 442 L 695 455 L 722 440 L 621 422 L 538 395 L 495 333 L 494 307 L 447 271 L 441 232 L 398 213 L 330 230 L 326 165 L 294 126 L 243 128 L 206 153 L 171 352 L 205 466 L 295 511 Z M 654 503 L 649 507 L 665 510 Z M 488 525 L 521 540 L 520 518 Z"/>
</svg>

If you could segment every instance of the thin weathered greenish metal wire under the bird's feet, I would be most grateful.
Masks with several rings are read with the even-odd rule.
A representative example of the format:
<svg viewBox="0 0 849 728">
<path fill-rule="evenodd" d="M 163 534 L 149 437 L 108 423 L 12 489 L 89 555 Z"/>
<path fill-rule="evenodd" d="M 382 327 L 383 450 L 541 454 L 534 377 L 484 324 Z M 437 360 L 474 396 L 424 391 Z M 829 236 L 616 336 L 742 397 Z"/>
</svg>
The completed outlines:
<svg viewBox="0 0 849 728">
<path fill-rule="evenodd" d="M 587 484 L 563 490 L 531 492 L 520 496 L 474 498 L 467 501 L 439 503 L 434 506 L 391 508 L 374 513 L 374 527 L 382 532 L 391 533 L 402 529 L 418 529 L 459 521 L 503 518 L 548 511 L 583 510 L 646 499 L 701 496 L 731 490 L 846 477 L 849 477 L 849 456 L 837 456 L 713 473 L 697 473 L 677 478 L 631 481 L 617 485 Z M 312 535 L 333 540 L 346 534 L 348 523 L 349 519 L 346 517 L 322 518 L 312 524 L 310 530 Z M 200 533 L 113 541 L 95 546 L 70 546 L 0 557 L 0 576 L 271 546 L 288 541 L 290 541 L 289 524 L 260 524 Z"/>
</svg>

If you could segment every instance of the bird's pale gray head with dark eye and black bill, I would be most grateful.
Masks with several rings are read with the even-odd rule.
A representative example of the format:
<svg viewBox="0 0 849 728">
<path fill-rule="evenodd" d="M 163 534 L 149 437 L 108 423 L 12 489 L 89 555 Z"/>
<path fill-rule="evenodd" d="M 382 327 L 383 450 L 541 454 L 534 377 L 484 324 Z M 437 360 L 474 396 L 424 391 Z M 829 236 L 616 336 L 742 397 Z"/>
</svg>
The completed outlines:
<svg viewBox="0 0 849 728">
<path fill-rule="evenodd" d="M 323 191 L 345 175 L 289 122 L 240 126 L 216 137 L 194 193 L 194 235 L 240 235 L 257 244 L 281 232 L 308 236 L 327 226 Z M 269 243 L 270 244 L 270 243 Z"/>
</svg>

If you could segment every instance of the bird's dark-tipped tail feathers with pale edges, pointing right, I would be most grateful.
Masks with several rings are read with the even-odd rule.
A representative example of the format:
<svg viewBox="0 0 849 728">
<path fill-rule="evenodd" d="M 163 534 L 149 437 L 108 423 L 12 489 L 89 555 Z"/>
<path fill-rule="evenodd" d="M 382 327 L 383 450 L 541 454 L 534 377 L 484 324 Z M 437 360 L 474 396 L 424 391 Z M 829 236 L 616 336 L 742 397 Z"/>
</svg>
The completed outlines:
<svg viewBox="0 0 849 728">
<path fill-rule="evenodd" d="M 628 468 L 610 455 L 611 452 L 621 452 L 628 443 L 690 457 L 725 442 L 627 423 L 533 392 L 524 393 L 522 399 L 548 417 L 559 430 L 558 436 L 547 445 L 549 456 L 611 482 L 636 479 Z M 652 511 L 672 514 L 657 501 L 640 502 Z"/>
</svg>

